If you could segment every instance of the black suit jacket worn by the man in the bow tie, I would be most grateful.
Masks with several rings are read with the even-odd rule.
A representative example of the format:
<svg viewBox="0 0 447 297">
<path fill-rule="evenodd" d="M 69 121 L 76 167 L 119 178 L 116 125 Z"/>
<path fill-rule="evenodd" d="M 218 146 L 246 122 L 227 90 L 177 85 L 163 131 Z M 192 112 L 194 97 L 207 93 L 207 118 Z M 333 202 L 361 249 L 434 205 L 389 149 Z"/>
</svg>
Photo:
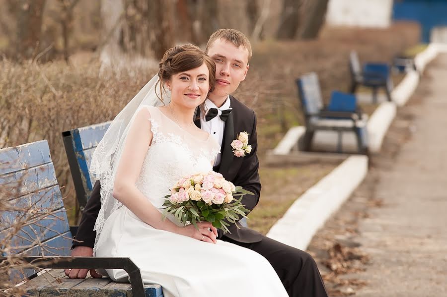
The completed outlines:
<svg viewBox="0 0 447 297">
<path fill-rule="evenodd" d="M 245 208 L 252 211 L 259 202 L 261 191 L 261 182 L 258 174 L 259 160 L 256 155 L 258 150 L 256 115 L 252 109 L 239 102 L 233 96 L 230 96 L 230 105 L 232 112 L 225 122 L 224 139 L 221 148 L 221 163 L 217 170 L 226 180 L 254 193 L 254 195 L 244 195 L 242 198 L 242 204 L 245 205 Z M 196 116 L 195 123 L 200 127 L 200 114 Z M 252 146 L 252 150 L 245 157 L 236 157 L 232 152 L 230 144 L 242 131 L 249 133 L 248 144 Z M 73 246 L 83 245 L 93 247 L 94 245 L 96 232 L 93 231 L 93 227 L 98 217 L 99 209 L 101 208 L 100 191 L 101 185 L 99 181 L 96 181 L 90 199 L 88 199 L 82 213 L 75 237 L 76 240 L 82 242 L 74 241 Z M 254 230 L 245 227 L 238 229 L 234 224 L 228 226 L 228 230 L 231 234 L 227 233 L 224 235 L 222 230 L 219 230 L 219 238 L 224 239 L 223 237 L 227 237 L 246 243 L 258 242 L 263 238 L 260 233 Z"/>
</svg>

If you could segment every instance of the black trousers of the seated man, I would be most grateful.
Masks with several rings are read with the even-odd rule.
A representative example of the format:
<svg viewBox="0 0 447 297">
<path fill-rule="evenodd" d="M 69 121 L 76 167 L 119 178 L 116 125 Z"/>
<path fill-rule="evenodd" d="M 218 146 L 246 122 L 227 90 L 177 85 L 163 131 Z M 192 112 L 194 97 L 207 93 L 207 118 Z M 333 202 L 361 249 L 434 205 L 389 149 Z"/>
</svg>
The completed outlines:
<svg viewBox="0 0 447 297">
<path fill-rule="evenodd" d="M 327 297 L 315 260 L 298 248 L 263 237 L 259 242 L 244 243 L 226 236 L 224 241 L 249 248 L 266 258 L 283 282 L 290 297 Z"/>
</svg>

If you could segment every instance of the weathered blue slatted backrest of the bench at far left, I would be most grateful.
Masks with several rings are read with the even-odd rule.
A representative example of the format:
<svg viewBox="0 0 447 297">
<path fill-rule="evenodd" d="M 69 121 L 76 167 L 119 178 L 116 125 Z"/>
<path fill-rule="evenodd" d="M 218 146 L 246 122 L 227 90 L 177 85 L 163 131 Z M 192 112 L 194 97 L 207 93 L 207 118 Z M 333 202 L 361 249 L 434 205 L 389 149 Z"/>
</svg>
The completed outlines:
<svg viewBox="0 0 447 297">
<path fill-rule="evenodd" d="M 8 247 L 1 256 L 70 255 L 72 234 L 46 140 L 0 149 L 0 189 L 10 206 L 1 211 L 0 240 Z M 11 279 L 34 273 L 15 271 Z"/>
</svg>

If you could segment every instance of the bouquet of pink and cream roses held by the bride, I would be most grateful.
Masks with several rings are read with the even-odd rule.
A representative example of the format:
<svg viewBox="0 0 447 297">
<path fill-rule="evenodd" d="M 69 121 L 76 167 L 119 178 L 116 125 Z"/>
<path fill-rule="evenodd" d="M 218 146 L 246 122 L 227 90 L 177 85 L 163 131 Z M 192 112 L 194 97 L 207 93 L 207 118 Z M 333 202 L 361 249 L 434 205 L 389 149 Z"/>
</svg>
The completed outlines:
<svg viewBox="0 0 447 297">
<path fill-rule="evenodd" d="M 242 196 L 252 192 L 234 186 L 230 181 L 214 171 L 181 178 L 166 195 L 163 217 L 170 213 L 183 224 L 190 222 L 197 229 L 197 222 L 211 222 L 224 233 L 230 223 L 245 217 L 248 210 L 242 205 Z M 236 199 L 235 197 L 239 197 Z M 237 225 L 236 225 L 237 226 Z"/>
</svg>

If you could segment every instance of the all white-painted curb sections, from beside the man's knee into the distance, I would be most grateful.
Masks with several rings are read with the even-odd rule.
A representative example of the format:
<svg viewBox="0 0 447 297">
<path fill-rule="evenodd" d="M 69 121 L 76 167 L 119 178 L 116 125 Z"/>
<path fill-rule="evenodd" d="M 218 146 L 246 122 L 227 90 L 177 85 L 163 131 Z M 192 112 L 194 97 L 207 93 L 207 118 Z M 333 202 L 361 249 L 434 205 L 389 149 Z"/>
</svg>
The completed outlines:
<svg viewBox="0 0 447 297">
<path fill-rule="evenodd" d="M 427 64 L 439 53 L 447 53 L 447 45 L 430 44 L 418 54 L 414 59 L 418 71 L 423 73 Z M 391 94 L 394 102 L 382 102 L 371 115 L 367 125 L 370 152 L 380 151 L 383 138 L 396 116 L 397 106 L 408 102 L 419 84 L 419 78 L 417 71 L 408 72 Z M 272 155 L 286 157 L 297 146 L 304 132 L 303 126 L 291 128 Z M 367 172 L 368 157 L 350 156 L 302 194 L 270 229 L 267 237 L 305 250 L 317 230 L 351 196 Z"/>
</svg>

